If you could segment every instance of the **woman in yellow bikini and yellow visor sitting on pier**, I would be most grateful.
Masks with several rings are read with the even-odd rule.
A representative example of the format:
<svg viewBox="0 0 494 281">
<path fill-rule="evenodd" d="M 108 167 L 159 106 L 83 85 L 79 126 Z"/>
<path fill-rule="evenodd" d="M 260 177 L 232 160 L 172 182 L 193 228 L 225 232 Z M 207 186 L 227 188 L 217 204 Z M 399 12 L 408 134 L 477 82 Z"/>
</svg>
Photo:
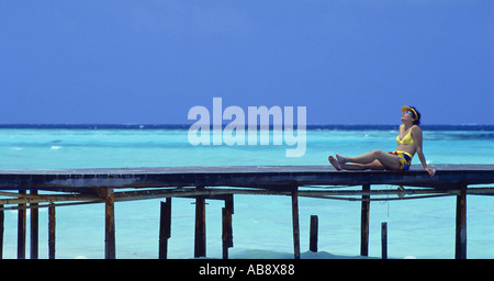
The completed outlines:
<svg viewBox="0 0 494 281">
<path fill-rule="evenodd" d="M 436 170 L 427 167 L 424 153 L 422 151 L 422 130 L 418 127 L 420 113 L 414 106 L 402 106 L 402 113 L 403 125 L 400 126 L 400 133 L 396 137 L 397 147 L 394 151 L 373 150 L 356 157 L 343 157 L 336 154 L 336 158 L 329 155 L 329 162 L 337 170 L 388 169 L 406 171 L 409 169 L 412 158 L 417 153 L 424 170 L 429 176 L 434 176 Z"/>
</svg>

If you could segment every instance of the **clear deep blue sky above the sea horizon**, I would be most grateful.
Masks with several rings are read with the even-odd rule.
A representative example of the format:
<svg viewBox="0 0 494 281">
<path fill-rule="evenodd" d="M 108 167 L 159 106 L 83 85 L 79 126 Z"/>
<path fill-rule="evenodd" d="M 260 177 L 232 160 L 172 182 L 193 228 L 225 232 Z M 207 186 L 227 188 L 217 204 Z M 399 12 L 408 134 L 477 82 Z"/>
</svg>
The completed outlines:
<svg viewBox="0 0 494 281">
<path fill-rule="evenodd" d="M 494 124 L 494 1 L 0 1 L 0 124 Z"/>
</svg>

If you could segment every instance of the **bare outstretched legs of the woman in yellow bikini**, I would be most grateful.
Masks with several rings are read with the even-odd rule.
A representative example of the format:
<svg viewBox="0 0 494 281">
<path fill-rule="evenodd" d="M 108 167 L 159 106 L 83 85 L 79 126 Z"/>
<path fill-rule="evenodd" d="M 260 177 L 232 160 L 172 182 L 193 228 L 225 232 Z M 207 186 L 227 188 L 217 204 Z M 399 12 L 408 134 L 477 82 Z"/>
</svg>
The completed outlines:
<svg viewBox="0 0 494 281">
<path fill-rule="evenodd" d="M 337 170 L 398 170 L 400 161 L 396 156 L 382 150 L 373 150 L 356 157 L 343 157 L 336 154 L 336 158 L 329 155 L 329 162 Z M 351 162 L 348 165 L 347 162 Z"/>
</svg>

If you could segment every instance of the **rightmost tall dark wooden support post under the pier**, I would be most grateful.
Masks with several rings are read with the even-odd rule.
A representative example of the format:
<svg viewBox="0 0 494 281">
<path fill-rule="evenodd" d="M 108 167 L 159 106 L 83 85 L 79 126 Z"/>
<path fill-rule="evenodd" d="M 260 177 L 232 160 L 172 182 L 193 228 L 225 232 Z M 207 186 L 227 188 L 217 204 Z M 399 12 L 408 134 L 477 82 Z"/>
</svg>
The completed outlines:
<svg viewBox="0 0 494 281">
<path fill-rule="evenodd" d="M 467 259 L 467 184 L 460 183 L 457 196 L 457 227 L 454 258 Z"/>
</svg>

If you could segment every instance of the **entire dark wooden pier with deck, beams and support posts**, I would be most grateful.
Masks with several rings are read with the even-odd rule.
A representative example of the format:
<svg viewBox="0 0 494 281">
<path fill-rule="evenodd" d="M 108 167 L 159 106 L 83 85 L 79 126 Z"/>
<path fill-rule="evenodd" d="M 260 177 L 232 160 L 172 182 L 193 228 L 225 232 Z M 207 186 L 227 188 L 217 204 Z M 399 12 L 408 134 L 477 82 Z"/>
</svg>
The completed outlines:
<svg viewBox="0 0 494 281">
<path fill-rule="evenodd" d="M 0 257 L 3 211 L 19 210 L 18 258 L 25 258 L 26 214 L 31 209 L 31 258 L 37 258 L 37 212 L 48 207 L 49 258 L 55 258 L 55 209 L 105 204 L 104 257 L 115 258 L 115 202 L 166 198 L 161 203 L 159 258 L 167 258 L 171 198 L 195 199 L 194 257 L 206 256 L 205 200 L 223 200 L 223 257 L 233 247 L 235 194 L 288 195 L 292 200 L 294 258 L 300 258 L 299 196 L 361 201 L 361 256 L 368 256 L 371 201 L 457 196 L 456 258 L 467 258 L 467 195 L 493 195 L 494 165 L 431 166 L 409 171 L 336 171 L 330 166 L 234 166 L 122 169 L 0 170 Z M 389 190 L 381 184 L 402 186 Z M 343 189 L 345 188 L 345 189 Z M 49 191 L 49 192 L 46 192 Z M 44 194 L 45 192 L 46 194 Z M 390 198 L 390 194 L 397 195 Z M 312 218 L 316 222 L 316 217 Z M 384 226 L 383 226 L 384 227 Z M 316 226 L 311 227 L 317 229 Z M 191 234 L 192 235 L 192 234 Z M 383 232 L 383 237 L 385 233 Z M 311 233 L 311 237 L 317 234 Z M 312 238 L 311 238 L 312 239 Z M 385 239 L 383 238 L 383 241 Z M 313 241 L 311 241 L 313 244 Z M 316 241 L 315 241 L 316 244 Z M 317 248 L 312 245 L 311 248 Z M 383 245 L 384 256 L 385 245 Z"/>
</svg>

